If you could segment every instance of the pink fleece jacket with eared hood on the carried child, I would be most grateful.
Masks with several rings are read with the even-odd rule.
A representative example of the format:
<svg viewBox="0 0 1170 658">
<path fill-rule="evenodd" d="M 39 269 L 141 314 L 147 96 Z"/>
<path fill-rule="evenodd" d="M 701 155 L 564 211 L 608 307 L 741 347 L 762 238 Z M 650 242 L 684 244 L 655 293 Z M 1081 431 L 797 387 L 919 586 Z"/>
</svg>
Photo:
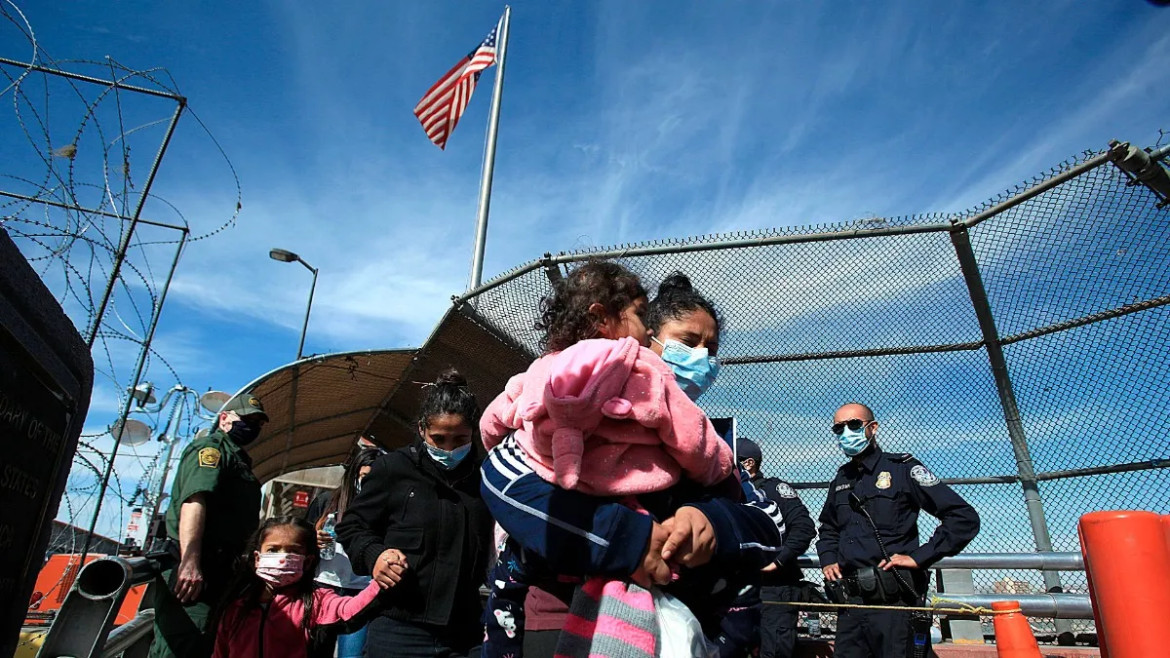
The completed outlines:
<svg viewBox="0 0 1170 658">
<path fill-rule="evenodd" d="M 491 450 L 508 434 L 537 475 L 590 495 L 633 495 L 727 478 L 731 447 L 634 338 L 593 338 L 509 379 L 480 420 Z"/>
</svg>

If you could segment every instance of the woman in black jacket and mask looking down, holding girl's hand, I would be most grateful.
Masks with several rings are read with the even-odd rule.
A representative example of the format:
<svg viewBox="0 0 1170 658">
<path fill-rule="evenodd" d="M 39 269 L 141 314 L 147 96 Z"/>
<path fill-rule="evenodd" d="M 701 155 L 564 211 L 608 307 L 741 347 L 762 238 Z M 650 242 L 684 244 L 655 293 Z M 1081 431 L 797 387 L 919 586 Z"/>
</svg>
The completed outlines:
<svg viewBox="0 0 1170 658">
<path fill-rule="evenodd" d="M 491 544 L 472 446 L 479 420 L 467 381 L 454 370 L 440 375 L 424 396 L 420 439 L 374 462 L 337 527 L 353 571 L 388 587 L 366 656 L 479 654 Z"/>
</svg>

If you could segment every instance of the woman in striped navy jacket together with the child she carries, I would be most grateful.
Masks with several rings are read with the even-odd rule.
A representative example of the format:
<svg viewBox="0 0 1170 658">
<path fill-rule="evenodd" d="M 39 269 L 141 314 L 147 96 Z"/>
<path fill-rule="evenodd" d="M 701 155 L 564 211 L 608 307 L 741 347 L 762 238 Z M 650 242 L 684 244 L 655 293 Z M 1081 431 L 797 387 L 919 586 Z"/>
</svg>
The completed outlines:
<svg viewBox="0 0 1170 658">
<path fill-rule="evenodd" d="M 484 416 L 484 499 L 512 536 L 489 578 L 487 656 L 518 654 L 534 582 L 662 585 L 682 567 L 673 589 L 690 590 L 694 609 L 775 556 L 783 520 L 762 496 L 744 500 L 729 446 L 693 403 L 717 373 L 717 314 L 684 276 L 668 283 L 652 336 L 634 274 L 574 269 L 542 304 L 546 356 Z"/>
</svg>

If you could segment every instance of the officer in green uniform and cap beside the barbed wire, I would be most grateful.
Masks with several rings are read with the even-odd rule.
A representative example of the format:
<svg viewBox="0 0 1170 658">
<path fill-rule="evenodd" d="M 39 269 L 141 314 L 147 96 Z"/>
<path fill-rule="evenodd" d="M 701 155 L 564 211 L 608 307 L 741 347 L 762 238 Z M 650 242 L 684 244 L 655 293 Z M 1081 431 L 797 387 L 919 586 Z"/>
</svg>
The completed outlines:
<svg viewBox="0 0 1170 658">
<path fill-rule="evenodd" d="M 179 563 L 163 574 L 170 589 L 156 590 L 152 658 L 212 653 L 215 629 L 207 628 L 208 616 L 260 523 L 260 482 L 243 448 L 267 421 L 260 399 L 233 398 L 214 431 L 179 458 L 166 510 L 167 544 Z"/>
</svg>

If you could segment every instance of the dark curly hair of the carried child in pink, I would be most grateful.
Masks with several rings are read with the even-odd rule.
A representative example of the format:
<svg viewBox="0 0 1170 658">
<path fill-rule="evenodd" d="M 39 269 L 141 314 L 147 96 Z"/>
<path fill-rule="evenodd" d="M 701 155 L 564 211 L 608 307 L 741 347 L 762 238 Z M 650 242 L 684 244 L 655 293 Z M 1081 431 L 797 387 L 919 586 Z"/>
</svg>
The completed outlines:
<svg viewBox="0 0 1170 658">
<path fill-rule="evenodd" d="M 591 260 L 577 266 L 569 276 L 552 286 L 552 294 L 541 300 L 541 318 L 535 328 L 544 331 L 541 347 L 545 352 L 598 337 L 605 317 L 589 311 L 598 303 L 606 317 L 619 317 L 636 300 L 646 297 L 638 275 L 606 260 Z"/>
</svg>

